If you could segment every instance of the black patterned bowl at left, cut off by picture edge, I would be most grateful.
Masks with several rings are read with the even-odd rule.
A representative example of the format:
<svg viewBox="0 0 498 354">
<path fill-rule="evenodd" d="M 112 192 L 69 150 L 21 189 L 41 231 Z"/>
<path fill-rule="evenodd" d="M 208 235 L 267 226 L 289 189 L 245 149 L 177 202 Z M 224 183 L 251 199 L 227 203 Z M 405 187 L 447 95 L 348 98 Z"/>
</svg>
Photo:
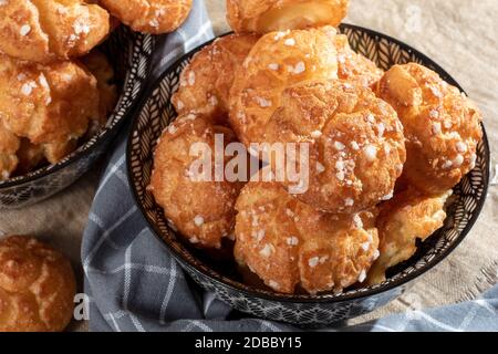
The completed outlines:
<svg viewBox="0 0 498 354">
<path fill-rule="evenodd" d="M 90 169 L 136 106 L 151 71 L 154 42 L 154 37 L 120 27 L 100 46 L 114 66 L 121 93 L 106 126 L 60 163 L 0 181 L 0 209 L 22 208 L 45 199 L 73 184 Z"/>
</svg>

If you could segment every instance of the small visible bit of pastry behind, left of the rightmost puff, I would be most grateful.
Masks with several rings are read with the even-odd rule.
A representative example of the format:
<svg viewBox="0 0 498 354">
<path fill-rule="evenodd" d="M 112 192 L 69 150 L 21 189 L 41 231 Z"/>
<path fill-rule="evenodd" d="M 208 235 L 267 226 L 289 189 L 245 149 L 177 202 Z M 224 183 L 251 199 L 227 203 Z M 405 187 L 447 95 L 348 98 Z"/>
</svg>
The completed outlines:
<svg viewBox="0 0 498 354">
<path fill-rule="evenodd" d="M 338 50 L 339 79 L 364 87 L 373 87 L 381 80 L 384 71 L 367 58 L 354 52 L 346 35 L 335 35 L 334 42 Z"/>
</svg>

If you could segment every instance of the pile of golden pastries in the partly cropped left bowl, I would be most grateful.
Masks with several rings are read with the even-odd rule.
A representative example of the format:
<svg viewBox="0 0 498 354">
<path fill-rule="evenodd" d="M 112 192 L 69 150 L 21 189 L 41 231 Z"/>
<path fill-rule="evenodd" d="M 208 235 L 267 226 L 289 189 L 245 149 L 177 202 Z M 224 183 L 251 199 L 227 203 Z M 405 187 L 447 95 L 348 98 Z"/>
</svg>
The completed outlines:
<svg viewBox="0 0 498 354">
<path fill-rule="evenodd" d="M 165 33 L 191 0 L 0 1 L 0 181 L 55 164 L 98 131 L 117 101 L 96 46 L 118 21 Z"/>
</svg>

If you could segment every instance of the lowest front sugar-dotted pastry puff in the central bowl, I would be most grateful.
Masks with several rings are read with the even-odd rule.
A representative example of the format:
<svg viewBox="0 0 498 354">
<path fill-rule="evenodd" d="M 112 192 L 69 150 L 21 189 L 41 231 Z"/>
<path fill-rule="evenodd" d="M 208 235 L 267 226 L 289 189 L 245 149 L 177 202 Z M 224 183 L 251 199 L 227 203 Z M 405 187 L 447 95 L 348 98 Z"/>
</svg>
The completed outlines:
<svg viewBox="0 0 498 354">
<path fill-rule="evenodd" d="M 378 254 L 372 212 L 323 214 L 262 181 L 242 188 L 236 209 L 237 262 L 278 292 L 341 292 L 363 282 Z"/>
</svg>

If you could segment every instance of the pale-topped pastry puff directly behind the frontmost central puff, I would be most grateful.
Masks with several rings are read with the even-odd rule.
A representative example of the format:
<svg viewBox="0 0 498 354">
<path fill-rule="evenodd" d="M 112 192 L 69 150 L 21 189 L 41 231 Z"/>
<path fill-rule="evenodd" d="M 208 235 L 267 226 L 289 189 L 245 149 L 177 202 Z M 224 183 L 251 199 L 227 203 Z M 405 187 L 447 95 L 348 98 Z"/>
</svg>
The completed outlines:
<svg viewBox="0 0 498 354">
<path fill-rule="evenodd" d="M 230 126 L 238 138 L 264 142 L 264 126 L 280 106 L 282 91 L 311 80 L 338 77 L 331 27 L 263 35 L 235 75 L 230 91 Z"/>
</svg>

